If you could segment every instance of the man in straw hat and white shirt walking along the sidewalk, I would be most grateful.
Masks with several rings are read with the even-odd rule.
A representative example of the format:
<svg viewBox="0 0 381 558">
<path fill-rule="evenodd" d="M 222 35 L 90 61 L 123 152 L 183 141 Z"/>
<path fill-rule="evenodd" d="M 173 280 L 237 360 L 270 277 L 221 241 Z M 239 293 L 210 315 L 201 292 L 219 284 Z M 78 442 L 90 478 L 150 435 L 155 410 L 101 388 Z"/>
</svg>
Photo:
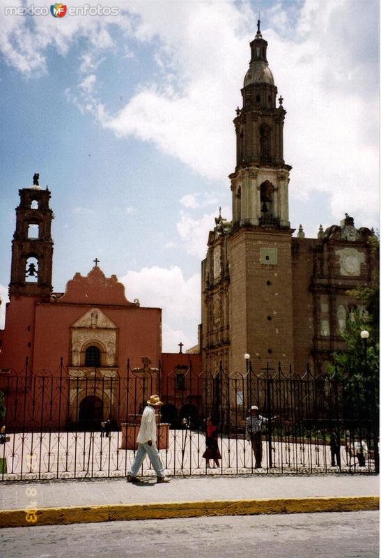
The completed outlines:
<svg viewBox="0 0 381 558">
<path fill-rule="evenodd" d="M 169 478 L 164 474 L 164 467 L 156 447 L 156 416 L 155 411 L 162 405 L 159 395 L 151 395 L 147 400 L 147 407 L 141 416 L 139 433 L 137 435 L 138 450 L 130 472 L 127 474 L 127 482 L 139 483 L 137 477 L 144 458 L 148 455 L 151 465 L 155 469 L 158 483 L 169 483 Z"/>
</svg>

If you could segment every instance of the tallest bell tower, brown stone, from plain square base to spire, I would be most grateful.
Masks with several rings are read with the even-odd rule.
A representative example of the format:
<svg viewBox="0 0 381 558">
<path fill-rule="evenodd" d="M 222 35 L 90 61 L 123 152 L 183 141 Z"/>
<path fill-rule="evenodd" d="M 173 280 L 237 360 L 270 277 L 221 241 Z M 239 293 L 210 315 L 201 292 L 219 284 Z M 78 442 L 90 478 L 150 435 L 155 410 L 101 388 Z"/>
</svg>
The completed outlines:
<svg viewBox="0 0 381 558">
<path fill-rule="evenodd" d="M 293 364 L 293 291 L 288 175 L 283 160 L 283 99 L 267 63 L 258 21 L 250 43 L 242 108 L 234 119 L 237 165 L 230 175 L 233 231 L 228 239 L 231 370 L 249 353 L 258 370 L 267 362 Z"/>
</svg>

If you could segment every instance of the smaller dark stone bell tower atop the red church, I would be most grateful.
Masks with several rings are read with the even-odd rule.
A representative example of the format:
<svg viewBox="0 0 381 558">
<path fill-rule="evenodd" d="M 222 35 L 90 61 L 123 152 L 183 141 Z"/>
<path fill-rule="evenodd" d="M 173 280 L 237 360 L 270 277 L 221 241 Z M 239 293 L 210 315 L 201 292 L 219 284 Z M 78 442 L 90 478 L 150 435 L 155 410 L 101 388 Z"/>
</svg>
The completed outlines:
<svg viewBox="0 0 381 558">
<path fill-rule="evenodd" d="M 12 243 L 10 297 L 40 296 L 49 300 L 52 293 L 53 211 L 49 207 L 50 192 L 38 185 L 19 190 L 20 205 L 16 208 L 16 230 Z"/>
</svg>

